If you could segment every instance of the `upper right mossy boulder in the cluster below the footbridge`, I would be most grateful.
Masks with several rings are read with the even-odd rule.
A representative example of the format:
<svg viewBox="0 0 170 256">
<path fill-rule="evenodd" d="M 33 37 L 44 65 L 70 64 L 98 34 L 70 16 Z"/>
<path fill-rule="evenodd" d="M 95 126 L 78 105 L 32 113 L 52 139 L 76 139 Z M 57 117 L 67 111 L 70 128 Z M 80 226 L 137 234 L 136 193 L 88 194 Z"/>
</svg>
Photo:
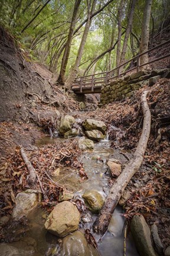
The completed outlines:
<svg viewBox="0 0 170 256">
<path fill-rule="evenodd" d="M 83 122 L 83 127 L 85 130 L 100 130 L 103 134 L 106 131 L 106 124 L 103 121 L 97 121 L 94 119 L 86 119 Z"/>
</svg>

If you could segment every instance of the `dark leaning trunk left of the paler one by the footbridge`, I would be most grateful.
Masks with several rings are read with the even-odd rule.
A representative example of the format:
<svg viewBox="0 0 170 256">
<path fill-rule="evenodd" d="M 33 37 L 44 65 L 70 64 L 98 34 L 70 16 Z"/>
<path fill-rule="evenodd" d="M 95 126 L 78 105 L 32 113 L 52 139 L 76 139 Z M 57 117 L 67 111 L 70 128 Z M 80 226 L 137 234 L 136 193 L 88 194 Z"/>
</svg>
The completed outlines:
<svg viewBox="0 0 170 256">
<path fill-rule="evenodd" d="M 81 2 L 81 0 L 76 0 L 75 5 L 74 5 L 73 16 L 72 16 L 72 20 L 71 20 L 70 30 L 68 33 L 68 39 L 67 39 L 66 47 L 64 50 L 63 59 L 61 62 L 60 75 L 58 76 L 58 82 L 60 82 L 61 84 L 64 84 L 64 75 L 66 73 L 66 66 L 68 63 L 68 57 L 70 55 L 71 41 L 73 39 L 74 27 L 76 25 L 80 2 Z"/>
</svg>

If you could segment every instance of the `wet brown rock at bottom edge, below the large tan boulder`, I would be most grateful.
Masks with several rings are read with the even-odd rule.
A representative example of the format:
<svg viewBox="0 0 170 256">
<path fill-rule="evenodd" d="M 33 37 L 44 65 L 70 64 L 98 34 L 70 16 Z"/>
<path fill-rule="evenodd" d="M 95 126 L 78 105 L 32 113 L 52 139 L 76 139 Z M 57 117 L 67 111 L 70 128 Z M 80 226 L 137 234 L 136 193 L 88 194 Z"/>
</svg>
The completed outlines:
<svg viewBox="0 0 170 256">
<path fill-rule="evenodd" d="M 98 256 L 96 249 L 87 244 L 86 238 L 81 231 L 67 235 L 63 239 L 61 256 Z"/>
</svg>

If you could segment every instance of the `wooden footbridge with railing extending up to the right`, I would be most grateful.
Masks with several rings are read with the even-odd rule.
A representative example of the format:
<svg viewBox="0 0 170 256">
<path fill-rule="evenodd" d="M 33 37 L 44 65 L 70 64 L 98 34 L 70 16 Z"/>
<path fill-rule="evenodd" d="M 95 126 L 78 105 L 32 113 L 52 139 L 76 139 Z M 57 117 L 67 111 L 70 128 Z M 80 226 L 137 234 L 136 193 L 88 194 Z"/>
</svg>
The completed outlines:
<svg viewBox="0 0 170 256">
<path fill-rule="evenodd" d="M 165 46 L 167 44 L 166 50 L 164 52 L 164 56 L 157 57 L 156 59 L 152 59 L 149 62 L 146 62 L 142 65 L 140 65 L 140 57 L 142 55 L 145 55 L 146 53 L 151 53 L 154 50 L 160 50 L 162 46 Z M 152 49 L 149 49 L 146 52 L 140 53 L 139 55 L 133 57 L 132 59 L 128 60 L 127 62 L 123 63 L 120 66 L 117 66 L 115 69 L 112 69 L 112 71 L 106 71 L 101 73 L 94 73 L 92 75 L 86 75 L 86 76 L 78 76 L 71 87 L 71 89 L 74 91 L 75 94 L 96 94 L 101 92 L 101 88 L 103 84 L 109 84 L 109 82 L 115 80 L 116 78 L 120 78 L 120 76 L 126 75 L 126 73 L 129 73 L 132 71 L 140 71 L 140 68 L 143 66 L 149 65 L 153 62 L 158 62 L 159 60 L 169 58 L 170 53 L 170 40 L 159 44 L 156 47 L 153 47 Z M 168 53 L 168 54 L 166 54 Z M 126 68 L 126 65 L 130 62 L 136 63 L 136 66 L 134 68 L 129 69 L 128 71 L 122 72 L 123 68 Z M 170 59 L 168 60 L 168 64 L 170 64 Z M 116 75 L 115 75 L 116 74 Z"/>
</svg>

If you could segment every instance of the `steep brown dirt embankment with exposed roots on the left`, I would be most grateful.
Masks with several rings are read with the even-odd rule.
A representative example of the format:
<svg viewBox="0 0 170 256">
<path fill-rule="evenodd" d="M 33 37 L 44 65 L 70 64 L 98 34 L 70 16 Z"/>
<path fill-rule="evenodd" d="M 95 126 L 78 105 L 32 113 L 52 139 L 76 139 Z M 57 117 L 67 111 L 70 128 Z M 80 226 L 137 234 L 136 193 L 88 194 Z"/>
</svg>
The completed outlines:
<svg viewBox="0 0 170 256">
<path fill-rule="evenodd" d="M 79 104 L 54 85 L 55 80 L 0 27 L 1 155 L 14 151 L 16 145 L 34 143 L 42 130 L 55 128 L 62 113 L 78 110 Z"/>
</svg>

